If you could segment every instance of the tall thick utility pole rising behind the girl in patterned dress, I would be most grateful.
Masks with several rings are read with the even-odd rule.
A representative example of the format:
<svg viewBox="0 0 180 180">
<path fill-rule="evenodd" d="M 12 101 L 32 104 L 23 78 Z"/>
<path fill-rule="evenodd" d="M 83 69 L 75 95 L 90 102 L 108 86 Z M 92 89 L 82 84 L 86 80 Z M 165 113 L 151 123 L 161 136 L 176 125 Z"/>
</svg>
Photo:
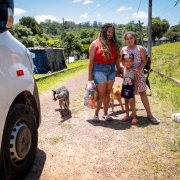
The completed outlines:
<svg viewBox="0 0 180 180">
<path fill-rule="evenodd" d="M 148 12 L 148 53 L 151 56 L 152 48 L 152 0 L 149 0 L 149 12 Z"/>
</svg>

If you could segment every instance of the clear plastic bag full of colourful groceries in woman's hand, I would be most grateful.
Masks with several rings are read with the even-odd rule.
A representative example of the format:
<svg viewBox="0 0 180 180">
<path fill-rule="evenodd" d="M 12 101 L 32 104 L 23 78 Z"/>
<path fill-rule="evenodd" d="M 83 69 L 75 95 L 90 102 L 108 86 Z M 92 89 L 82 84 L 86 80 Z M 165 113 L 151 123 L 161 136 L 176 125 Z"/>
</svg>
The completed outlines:
<svg viewBox="0 0 180 180">
<path fill-rule="evenodd" d="M 88 81 L 84 90 L 84 105 L 90 109 L 97 107 L 97 88 L 93 81 Z"/>
</svg>

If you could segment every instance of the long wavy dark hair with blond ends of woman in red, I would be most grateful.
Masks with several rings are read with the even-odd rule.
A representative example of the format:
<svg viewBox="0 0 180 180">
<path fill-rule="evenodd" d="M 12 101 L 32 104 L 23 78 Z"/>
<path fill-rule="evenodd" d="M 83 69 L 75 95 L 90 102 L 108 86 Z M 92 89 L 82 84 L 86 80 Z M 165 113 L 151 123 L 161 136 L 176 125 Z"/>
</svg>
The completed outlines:
<svg viewBox="0 0 180 180">
<path fill-rule="evenodd" d="M 119 58 L 120 56 L 119 45 L 118 45 L 116 34 L 115 34 L 115 27 L 110 23 L 105 23 L 102 26 L 101 32 L 99 34 L 100 47 L 101 47 L 102 55 L 105 57 L 105 60 L 112 58 L 111 46 L 110 46 L 109 40 L 107 39 L 107 30 L 109 27 L 112 27 L 114 30 L 112 42 L 116 49 L 116 54 L 117 54 L 116 59 Z"/>
</svg>

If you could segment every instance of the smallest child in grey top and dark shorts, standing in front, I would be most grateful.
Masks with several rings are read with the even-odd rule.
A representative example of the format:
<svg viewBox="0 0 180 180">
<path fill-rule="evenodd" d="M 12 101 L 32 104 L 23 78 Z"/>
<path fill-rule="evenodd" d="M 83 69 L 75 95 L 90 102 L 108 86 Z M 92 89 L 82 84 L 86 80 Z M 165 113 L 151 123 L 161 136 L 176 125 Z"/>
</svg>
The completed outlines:
<svg viewBox="0 0 180 180">
<path fill-rule="evenodd" d="M 134 61 L 134 54 L 123 54 L 122 55 L 122 63 L 124 65 L 123 75 L 123 85 L 121 97 L 125 100 L 126 107 L 126 116 L 122 119 L 122 121 L 129 121 L 132 118 L 131 124 L 137 124 L 138 119 L 136 118 L 136 109 L 135 109 L 135 98 L 134 95 L 137 94 L 138 88 L 138 77 L 134 74 L 132 69 Z M 132 109 L 132 117 L 129 116 L 129 105 Z"/>
</svg>

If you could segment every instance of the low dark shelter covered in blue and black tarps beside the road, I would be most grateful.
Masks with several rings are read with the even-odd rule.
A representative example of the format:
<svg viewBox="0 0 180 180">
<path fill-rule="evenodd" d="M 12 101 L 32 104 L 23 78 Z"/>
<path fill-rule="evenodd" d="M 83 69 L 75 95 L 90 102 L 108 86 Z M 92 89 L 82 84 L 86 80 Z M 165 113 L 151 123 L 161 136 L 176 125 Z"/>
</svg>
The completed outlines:
<svg viewBox="0 0 180 180">
<path fill-rule="evenodd" d="M 66 68 L 64 49 L 51 47 L 28 48 L 33 56 L 35 73 L 48 73 Z"/>
</svg>

